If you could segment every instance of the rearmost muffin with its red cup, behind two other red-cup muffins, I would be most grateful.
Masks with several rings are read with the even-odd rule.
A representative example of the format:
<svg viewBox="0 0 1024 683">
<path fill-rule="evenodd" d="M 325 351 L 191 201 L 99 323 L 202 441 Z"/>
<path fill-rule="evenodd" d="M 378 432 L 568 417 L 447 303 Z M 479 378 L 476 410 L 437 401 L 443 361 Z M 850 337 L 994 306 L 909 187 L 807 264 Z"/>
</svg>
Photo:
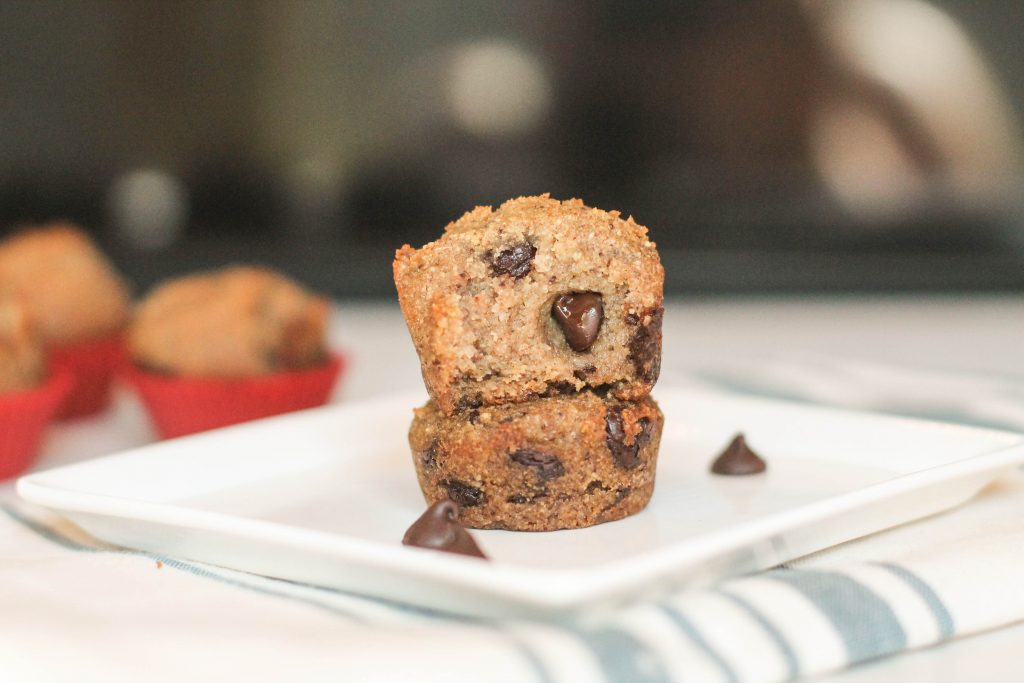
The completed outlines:
<svg viewBox="0 0 1024 683">
<path fill-rule="evenodd" d="M 49 223 L 7 238 L 0 243 L 0 289 L 24 301 L 51 366 L 73 378 L 58 416 L 106 408 L 131 297 L 89 237 L 71 223 Z"/>
</svg>

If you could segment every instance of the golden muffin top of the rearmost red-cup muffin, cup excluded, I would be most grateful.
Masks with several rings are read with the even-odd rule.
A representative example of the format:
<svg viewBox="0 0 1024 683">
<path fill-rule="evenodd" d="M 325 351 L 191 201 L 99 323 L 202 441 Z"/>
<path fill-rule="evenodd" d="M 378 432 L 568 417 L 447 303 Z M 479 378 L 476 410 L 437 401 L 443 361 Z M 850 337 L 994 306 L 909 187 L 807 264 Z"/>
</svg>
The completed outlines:
<svg viewBox="0 0 1024 683">
<path fill-rule="evenodd" d="M 0 289 L 25 302 L 47 344 L 91 341 L 128 319 L 128 287 L 71 223 L 30 228 L 0 243 Z"/>
</svg>

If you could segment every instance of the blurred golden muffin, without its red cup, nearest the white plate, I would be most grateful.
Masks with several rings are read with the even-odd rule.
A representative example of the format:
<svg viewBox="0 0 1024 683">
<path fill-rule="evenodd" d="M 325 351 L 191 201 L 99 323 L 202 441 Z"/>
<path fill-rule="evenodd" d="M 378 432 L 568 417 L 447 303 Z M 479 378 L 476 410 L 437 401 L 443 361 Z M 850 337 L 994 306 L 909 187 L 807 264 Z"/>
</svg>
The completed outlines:
<svg viewBox="0 0 1024 683">
<path fill-rule="evenodd" d="M 245 378 L 323 366 L 328 302 L 270 270 L 234 266 L 171 281 L 138 306 L 128 347 L 139 367 Z"/>
</svg>

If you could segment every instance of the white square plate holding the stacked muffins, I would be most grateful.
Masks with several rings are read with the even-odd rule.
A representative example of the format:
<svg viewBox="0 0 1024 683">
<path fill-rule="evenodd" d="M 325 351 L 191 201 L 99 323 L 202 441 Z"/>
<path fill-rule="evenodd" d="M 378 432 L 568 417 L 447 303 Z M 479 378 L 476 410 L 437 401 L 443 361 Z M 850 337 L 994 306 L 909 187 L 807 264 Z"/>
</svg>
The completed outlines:
<svg viewBox="0 0 1024 683">
<path fill-rule="evenodd" d="M 23 477 L 104 541 L 467 614 L 551 615 L 763 569 L 958 505 L 1024 462 L 1019 434 L 695 388 L 666 415 L 641 513 L 586 529 L 474 531 L 492 558 L 406 548 L 425 505 L 406 433 L 418 395 L 164 441 Z M 768 462 L 708 467 L 737 431 Z"/>
</svg>

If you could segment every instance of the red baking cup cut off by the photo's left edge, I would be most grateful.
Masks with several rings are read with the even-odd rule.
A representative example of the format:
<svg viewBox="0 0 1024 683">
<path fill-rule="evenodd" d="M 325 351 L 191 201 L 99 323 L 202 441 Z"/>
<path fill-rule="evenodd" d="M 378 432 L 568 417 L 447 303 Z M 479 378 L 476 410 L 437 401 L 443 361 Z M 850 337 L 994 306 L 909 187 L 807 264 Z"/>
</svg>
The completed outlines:
<svg viewBox="0 0 1024 683">
<path fill-rule="evenodd" d="M 73 382 L 68 371 L 54 370 L 35 389 L 0 394 L 0 479 L 20 474 L 36 460 L 43 431 Z"/>
</svg>

